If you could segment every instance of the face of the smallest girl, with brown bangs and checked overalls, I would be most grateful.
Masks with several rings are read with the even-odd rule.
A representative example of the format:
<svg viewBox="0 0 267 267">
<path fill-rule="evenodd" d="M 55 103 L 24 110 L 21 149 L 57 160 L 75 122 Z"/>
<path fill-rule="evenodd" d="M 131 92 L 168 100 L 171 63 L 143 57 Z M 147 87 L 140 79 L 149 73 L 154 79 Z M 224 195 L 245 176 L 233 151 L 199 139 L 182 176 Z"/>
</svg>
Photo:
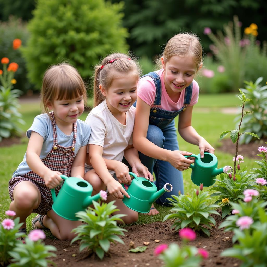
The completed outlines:
<svg viewBox="0 0 267 267">
<path fill-rule="evenodd" d="M 84 98 L 79 96 L 75 99 L 54 100 L 48 107 L 54 111 L 57 122 L 70 124 L 75 122 L 84 112 Z"/>
</svg>

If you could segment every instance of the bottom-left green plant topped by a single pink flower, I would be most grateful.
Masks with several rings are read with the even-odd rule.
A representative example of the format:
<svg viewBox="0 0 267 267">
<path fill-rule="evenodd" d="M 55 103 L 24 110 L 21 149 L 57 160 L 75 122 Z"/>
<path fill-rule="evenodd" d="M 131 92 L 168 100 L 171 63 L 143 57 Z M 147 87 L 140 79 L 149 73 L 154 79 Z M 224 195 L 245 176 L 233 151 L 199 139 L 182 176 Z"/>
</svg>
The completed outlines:
<svg viewBox="0 0 267 267">
<path fill-rule="evenodd" d="M 9 267 L 19 266 L 34 266 L 34 267 L 46 267 L 48 264 L 56 266 L 56 264 L 49 260 L 50 257 L 56 257 L 57 255 L 50 251 L 56 251 L 54 246 L 45 245 L 42 243 L 42 239 L 45 238 L 45 233 L 40 230 L 32 230 L 29 236 L 25 238 L 25 244 L 18 242 L 16 247 L 9 252 L 13 258 Z"/>
</svg>

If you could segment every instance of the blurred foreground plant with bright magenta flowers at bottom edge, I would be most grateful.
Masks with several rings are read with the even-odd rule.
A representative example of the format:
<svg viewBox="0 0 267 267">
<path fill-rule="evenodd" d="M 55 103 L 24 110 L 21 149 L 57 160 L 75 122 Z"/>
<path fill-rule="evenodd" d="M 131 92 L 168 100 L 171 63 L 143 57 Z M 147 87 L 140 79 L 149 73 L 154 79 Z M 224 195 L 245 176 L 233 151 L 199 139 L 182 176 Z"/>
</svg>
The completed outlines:
<svg viewBox="0 0 267 267">
<path fill-rule="evenodd" d="M 154 250 L 155 256 L 159 256 L 164 262 L 164 267 L 198 267 L 203 258 L 208 258 L 209 253 L 205 249 L 197 249 L 194 246 L 188 246 L 187 242 L 196 238 L 195 232 L 190 228 L 184 228 L 179 231 L 179 236 L 183 239 L 183 246 L 171 243 L 160 244 Z"/>
</svg>

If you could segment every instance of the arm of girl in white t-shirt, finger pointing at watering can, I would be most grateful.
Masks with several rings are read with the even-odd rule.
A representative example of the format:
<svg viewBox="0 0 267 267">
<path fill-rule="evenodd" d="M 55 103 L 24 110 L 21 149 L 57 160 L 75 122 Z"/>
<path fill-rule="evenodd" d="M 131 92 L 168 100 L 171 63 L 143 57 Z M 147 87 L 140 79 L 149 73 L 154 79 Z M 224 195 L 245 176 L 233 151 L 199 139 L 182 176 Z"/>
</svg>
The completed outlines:
<svg viewBox="0 0 267 267">
<path fill-rule="evenodd" d="M 109 194 L 113 198 L 122 199 L 123 195 L 129 198 L 130 196 L 123 189 L 121 184 L 110 175 L 102 155 L 103 155 L 103 147 L 94 144 L 89 144 L 90 162 L 97 175 L 107 186 Z"/>
</svg>

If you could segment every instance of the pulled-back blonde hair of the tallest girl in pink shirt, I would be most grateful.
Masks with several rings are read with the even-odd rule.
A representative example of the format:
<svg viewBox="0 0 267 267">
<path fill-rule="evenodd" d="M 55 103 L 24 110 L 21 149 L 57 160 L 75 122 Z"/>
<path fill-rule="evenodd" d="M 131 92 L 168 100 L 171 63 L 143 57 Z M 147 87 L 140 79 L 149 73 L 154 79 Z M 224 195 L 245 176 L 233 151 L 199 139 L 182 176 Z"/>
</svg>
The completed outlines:
<svg viewBox="0 0 267 267">
<path fill-rule="evenodd" d="M 173 36 L 166 44 L 162 57 L 164 61 L 168 61 L 172 56 L 186 57 L 193 56 L 197 68 L 202 66 L 203 49 L 199 38 L 192 33 L 178 33 Z M 162 67 L 160 58 L 158 65 Z"/>
</svg>

